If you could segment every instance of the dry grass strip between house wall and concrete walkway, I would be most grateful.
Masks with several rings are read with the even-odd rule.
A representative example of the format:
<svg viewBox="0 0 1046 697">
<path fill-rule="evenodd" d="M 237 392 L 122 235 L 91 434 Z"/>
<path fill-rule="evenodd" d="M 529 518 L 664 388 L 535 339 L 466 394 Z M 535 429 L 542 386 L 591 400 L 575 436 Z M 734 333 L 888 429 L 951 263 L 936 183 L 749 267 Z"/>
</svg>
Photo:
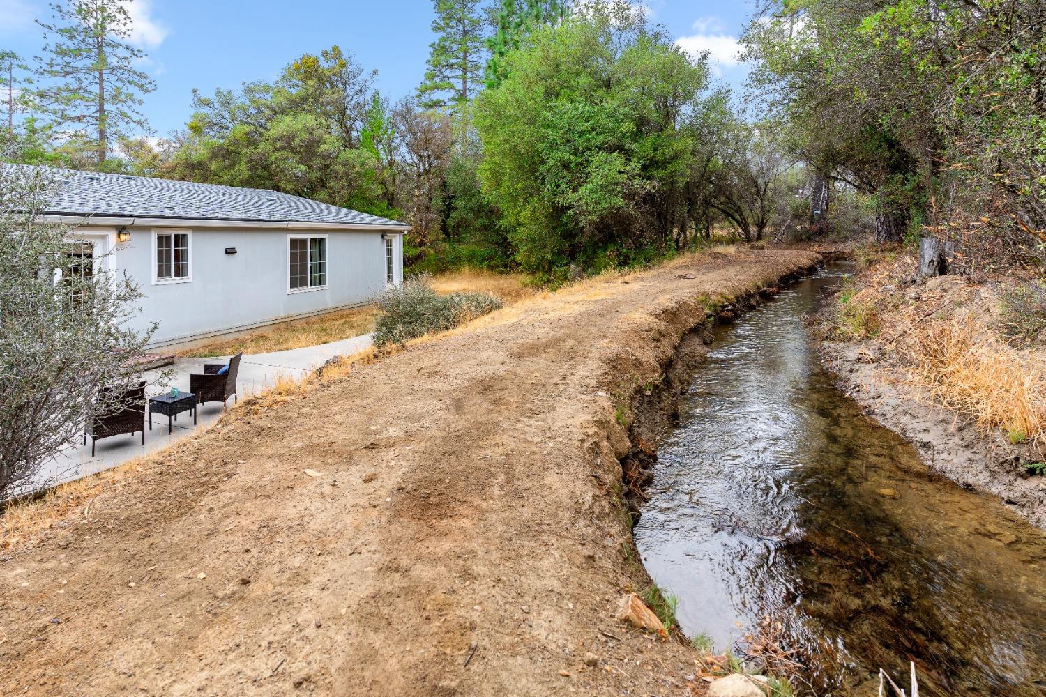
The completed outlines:
<svg viewBox="0 0 1046 697">
<path fill-rule="evenodd" d="M 351 339 L 373 331 L 378 306 L 366 305 L 340 312 L 281 324 L 246 336 L 237 336 L 207 346 L 179 351 L 183 356 L 217 356 L 244 353 L 269 353 L 317 346 Z"/>
</svg>

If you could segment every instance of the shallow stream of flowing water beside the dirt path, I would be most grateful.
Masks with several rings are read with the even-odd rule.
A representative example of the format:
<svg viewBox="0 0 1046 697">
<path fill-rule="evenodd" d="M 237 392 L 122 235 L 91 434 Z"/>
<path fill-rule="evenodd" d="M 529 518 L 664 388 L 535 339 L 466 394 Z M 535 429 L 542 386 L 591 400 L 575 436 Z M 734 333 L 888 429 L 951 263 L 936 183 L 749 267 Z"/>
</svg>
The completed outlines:
<svg viewBox="0 0 1046 697">
<path fill-rule="evenodd" d="M 801 319 L 843 276 L 718 331 L 658 451 L 646 568 L 688 635 L 792 651 L 798 694 L 876 694 L 880 668 L 907 683 L 911 660 L 924 697 L 1042 697 L 1046 535 L 934 477 L 834 387 Z"/>
</svg>

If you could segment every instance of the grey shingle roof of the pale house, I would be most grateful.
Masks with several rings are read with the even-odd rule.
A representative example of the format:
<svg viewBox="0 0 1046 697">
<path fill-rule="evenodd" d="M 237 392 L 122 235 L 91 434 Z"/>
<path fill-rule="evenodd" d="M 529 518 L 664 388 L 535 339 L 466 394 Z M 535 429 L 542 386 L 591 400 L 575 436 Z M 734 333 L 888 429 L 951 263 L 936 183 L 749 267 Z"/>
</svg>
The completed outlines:
<svg viewBox="0 0 1046 697">
<path fill-rule="evenodd" d="M 150 177 L 60 170 L 49 214 L 267 223 L 402 223 L 288 193 Z M 64 183 L 63 183 L 64 182 Z"/>
</svg>

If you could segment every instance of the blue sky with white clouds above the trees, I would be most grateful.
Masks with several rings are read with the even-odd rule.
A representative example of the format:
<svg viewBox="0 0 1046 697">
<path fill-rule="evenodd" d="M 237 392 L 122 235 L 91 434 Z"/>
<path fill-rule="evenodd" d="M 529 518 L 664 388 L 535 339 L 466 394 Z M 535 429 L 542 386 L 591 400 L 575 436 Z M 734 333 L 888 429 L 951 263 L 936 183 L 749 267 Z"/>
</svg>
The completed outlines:
<svg viewBox="0 0 1046 697">
<path fill-rule="evenodd" d="M 647 0 L 650 16 L 680 46 L 710 50 L 713 70 L 738 85 L 746 69 L 732 57 L 751 10 L 748 2 Z M 184 125 L 192 88 L 210 93 L 245 80 L 271 79 L 293 59 L 333 44 L 378 70 L 393 100 L 412 93 L 425 72 L 431 0 L 135 0 L 134 42 L 149 54 L 143 69 L 157 89 L 143 112 L 156 135 Z M 46 0 L 0 0 L 0 49 L 40 54 L 49 18 Z"/>
</svg>

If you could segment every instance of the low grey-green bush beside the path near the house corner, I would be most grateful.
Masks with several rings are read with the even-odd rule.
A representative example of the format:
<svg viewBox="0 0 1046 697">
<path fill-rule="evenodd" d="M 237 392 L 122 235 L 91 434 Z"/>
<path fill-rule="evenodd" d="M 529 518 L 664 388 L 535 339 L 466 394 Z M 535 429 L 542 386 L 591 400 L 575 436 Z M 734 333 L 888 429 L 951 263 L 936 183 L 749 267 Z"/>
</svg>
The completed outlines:
<svg viewBox="0 0 1046 697">
<path fill-rule="evenodd" d="M 386 291 L 378 306 L 383 315 L 374 329 L 374 345 L 384 346 L 456 327 L 499 309 L 501 301 L 485 293 L 441 296 L 429 286 L 428 274 L 420 274 Z"/>
</svg>

